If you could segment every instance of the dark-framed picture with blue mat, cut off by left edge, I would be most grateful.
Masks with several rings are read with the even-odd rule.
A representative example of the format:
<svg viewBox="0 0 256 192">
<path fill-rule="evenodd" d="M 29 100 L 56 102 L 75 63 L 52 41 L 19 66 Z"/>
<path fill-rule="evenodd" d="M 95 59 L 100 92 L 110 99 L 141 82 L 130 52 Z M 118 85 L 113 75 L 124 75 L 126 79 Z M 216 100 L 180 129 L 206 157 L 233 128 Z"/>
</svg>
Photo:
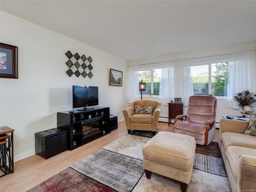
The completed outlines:
<svg viewBox="0 0 256 192">
<path fill-rule="evenodd" d="M 0 77 L 18 78 L 18 47 L 0 42 Z"/>
</svg>

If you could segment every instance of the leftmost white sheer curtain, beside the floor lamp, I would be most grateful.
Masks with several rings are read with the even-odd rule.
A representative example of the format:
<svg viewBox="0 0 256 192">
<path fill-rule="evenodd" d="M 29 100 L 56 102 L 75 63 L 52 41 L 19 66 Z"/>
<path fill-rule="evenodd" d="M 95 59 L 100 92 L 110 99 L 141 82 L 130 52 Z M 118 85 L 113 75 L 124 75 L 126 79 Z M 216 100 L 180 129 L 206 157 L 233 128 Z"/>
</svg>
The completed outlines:
<svg viewBox="0 0 256 192">
<path fill-rule="evenodd" d="M 129 66 L 128 68 L 128 101 L 133 102 L 140 99 L 139 95 L 139 76 L 138 66 Z"/>
</svg>

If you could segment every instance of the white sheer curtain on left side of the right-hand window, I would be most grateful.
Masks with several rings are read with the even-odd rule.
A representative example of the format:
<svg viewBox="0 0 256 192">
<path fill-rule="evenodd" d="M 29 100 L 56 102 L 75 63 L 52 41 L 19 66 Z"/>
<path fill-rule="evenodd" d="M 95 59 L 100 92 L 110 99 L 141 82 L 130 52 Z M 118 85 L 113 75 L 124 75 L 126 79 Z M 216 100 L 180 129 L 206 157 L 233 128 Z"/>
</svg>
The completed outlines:
<svg viewBox="0 0 256 192">
<path fill-rule="evenodd" d="M 190 59 L 179 60 L 174 68 L 174 95 L 182 99 L 184 106 L 187 106 L 189 96 L 194 95 L 190 63 Z"/>
</svg>

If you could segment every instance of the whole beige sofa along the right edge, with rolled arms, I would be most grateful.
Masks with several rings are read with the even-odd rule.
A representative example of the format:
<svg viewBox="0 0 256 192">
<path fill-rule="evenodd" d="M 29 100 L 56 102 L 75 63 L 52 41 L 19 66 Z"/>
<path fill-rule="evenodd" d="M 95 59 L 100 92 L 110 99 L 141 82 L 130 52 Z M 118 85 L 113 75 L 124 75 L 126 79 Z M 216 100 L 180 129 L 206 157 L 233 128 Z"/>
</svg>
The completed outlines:
<svg viewBox="0 0 256 192">
<path fill-rule="evenodd" d="M 241 134 L 248 122 L 220 120 L 220 148 L 232 191 L 256 191 L 256 137 Z"/>
</svg>

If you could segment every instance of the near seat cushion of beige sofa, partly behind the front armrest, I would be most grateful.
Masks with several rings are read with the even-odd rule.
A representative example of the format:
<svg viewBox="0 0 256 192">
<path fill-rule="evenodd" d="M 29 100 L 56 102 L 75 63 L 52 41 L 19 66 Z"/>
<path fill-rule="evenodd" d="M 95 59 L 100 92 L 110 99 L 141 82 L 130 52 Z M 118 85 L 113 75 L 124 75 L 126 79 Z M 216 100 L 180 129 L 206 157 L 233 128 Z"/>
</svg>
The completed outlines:
<svg viewBox="0 0 256 192">
<path fill-rule="evenodd" d="M 237 180 L 237 170 L 238 170 L 237 166 L 238 166 L 239 156 L 240 155 L 256 156 L 256 149 L 240 147 L 240 146 L 228 146 L 226 150 L 226 155 L 231 167 L 232 174 L 234 178 Z"/>
</svg>

